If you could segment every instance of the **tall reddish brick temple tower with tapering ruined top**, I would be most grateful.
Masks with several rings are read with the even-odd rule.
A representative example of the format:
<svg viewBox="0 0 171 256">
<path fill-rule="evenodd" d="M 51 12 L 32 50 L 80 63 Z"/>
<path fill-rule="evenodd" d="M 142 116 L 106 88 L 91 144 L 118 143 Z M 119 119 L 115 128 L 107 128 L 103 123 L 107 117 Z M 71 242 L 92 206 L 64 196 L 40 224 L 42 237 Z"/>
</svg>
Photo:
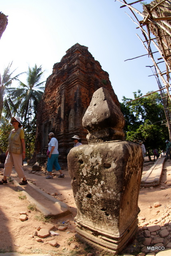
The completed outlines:
<svg viewBox="0 0 171 256">
<path fill-rule="evenodd" d="M 45 84 L 45 92 L 37 109 L 35 153 L 47 146 L 48 133 L 54 132 L 59 142 L 59 162 L 67 162 L 67 154 L 73 147 L 71 137 L 80 136 L 87 144 L 87 131 L 82 118 L 93 93 L 100 87 L 110 92 L 114 102 L 118 98 L 111 86 L 109 75 L 88 52 L 88 47 L 75 44 L 61 62 L 54 64 L 53 73 Z"/>
</svg>

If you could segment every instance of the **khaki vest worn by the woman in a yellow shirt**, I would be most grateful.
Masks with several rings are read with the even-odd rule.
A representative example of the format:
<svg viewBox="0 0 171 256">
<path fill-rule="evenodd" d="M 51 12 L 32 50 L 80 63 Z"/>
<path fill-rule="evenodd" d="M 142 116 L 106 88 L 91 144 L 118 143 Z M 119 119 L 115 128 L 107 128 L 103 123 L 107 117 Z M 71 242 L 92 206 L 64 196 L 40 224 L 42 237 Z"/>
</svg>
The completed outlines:
<svg viewBox="0 0 171 256">
<path fill-rule="evenodd" d="M 8 137 L 8 151 L 16 154 L 22 154 L 23 148 L 22 148 L 22 142 L 20 140 L 21 128 L 18 128 L 14 137 L 11 138 L 13 131 L 14 129 L 10 132 L 10 135 Z"/>
</svg>

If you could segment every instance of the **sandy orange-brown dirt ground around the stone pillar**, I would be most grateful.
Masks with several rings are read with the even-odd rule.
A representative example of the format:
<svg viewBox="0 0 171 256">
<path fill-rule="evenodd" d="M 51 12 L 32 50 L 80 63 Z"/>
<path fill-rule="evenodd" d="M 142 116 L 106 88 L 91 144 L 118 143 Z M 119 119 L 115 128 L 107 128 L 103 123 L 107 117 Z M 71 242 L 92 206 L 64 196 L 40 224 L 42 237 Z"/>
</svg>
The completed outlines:
<svg viewBox="0 0 171 256">
<path fill-rule="evenodd" d="M 151 167 L 144 166 L 143 174 Z M 33 253 L 49 253 L 52 256 L 74 256 L 93 253 L 93 256 L 109 255 L 103 254 L 85 244 L 79 242 L 75 238 L 75 222 L 74 217 L 77 214 L 75 201 L 73 198 L 73 192 L 71 188 L 71 178 L 68 174 L 68 170 L 63 170 L 65 178 L 57 178 L 55 176 L 53 180 L 45 179 L 43 175 L 36 175 L 29 173 L 31 166 L 24 166 L 26 178 L 35 183 L 37 187 L 41 188 L 45 192 L 51 194 L 56 193 L 56 198 L 65 202 L 71 210 L 71 215 L 65 216 L 60 219 L 47 220 L 37 212 L 23 196 L 22 192 L 19 192 L 13 182 L 8 179 L 8 185 L 0 186 L 0 253 L 3 252 L 24 252 L 27 254 Z M 57 173 L 57 172 L 54 172 Z M 3 169 L 0 169 L 0 175 L 3 175 Z M 2 176 L 0 176 L 1 179 Z M 12 174 L 12 178 L 17 181 L 16 173 Z M 151 219 L 159 218 L 160 214 L 163 214 L 166 206 L 171 206 L 171 186 L 167 184 L 171 183 L 171 161 L 167 161 L 163 168 L 163 175 L 161 178 L 161 185 L 165 185 L 165 189 L 161 189 L 161 185 L 153 188 L 141 188 L 139 196 L 140 214 L 139 220 L 142 221 L 145 218 L 146 222 Z M 160 207 L 154 208 L 153 204 L 159 202 Z M 26 221 L 20 220 L 20 212 L 27 212 L 28 218 Z M 158 211 L 158 212 L 157 212 Z M 65 224 L 62 222 L 65 221 Z M 57 230 L 59 225 L 66 225 L 67 230 Z M 37 231 L 37 227 L 52 229 L 59 235 L 51 235 L 47 238 L 43 238 L 41 242 L 37 242 L 34 232 Z M 55 240 L 58 245 L 53 247 L 49 244 L 49 241 Z M 76 245 L 77 249 L 73 249 Z"/>
</svg>

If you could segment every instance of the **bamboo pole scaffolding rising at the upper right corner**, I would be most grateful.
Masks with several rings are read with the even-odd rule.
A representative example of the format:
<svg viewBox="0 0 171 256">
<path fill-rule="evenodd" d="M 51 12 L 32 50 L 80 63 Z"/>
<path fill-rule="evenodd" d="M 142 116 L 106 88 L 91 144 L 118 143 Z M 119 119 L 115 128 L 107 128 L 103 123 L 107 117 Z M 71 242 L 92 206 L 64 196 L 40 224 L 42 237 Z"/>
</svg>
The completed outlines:
<svg viewBox="0 0 171 256">
<path fill-rule="evenodd" d="M 170 41 L 171 40 L 169 42 L 167 40 L 167 38 L 168 39 L 171 38 L 171 24 L 168 23 L 169 21 L 171 21 L 171 16 L 167 15 L 167 16 L 163 17 L 163 14 L 162 14 L 161 8 L 160 8 L 160 6 L 168 8 L 167 4 L 164 4 L 167 0 L 162 0 L 157 4 L 155 4 L 155 2 L 153 1 L 151 4 L 151 8 L 150 8 L 150 4 L 145 5 L 143 8 L 144 8 L 146 14 L 141 13 L 139 10 L 137 10 L 136 8 L 134 8 L 132 6 L 132 4 L 135 4 L 135 3 L 141 2 L 141 1 L 136 1 L 136 2 L 133 2 L 130 4 L 127 4 L 125 0 L 123 0 L 123 2 L 121 0 L 117 0 L 117 1 L 124 4 L 120 8 L 127 6 L 131 10 L 131 12 L 134 15 L 134 17 L 136 18 L 137 22 L 135 22 L 132 19 L 132 17 L 130 17 L 129 14 L 127 14 L 127 15 L 132 19 L 132 21 L 136 25 L 138 25 L 137 28 L 141 29 L 142 34 L 145 37 L 145 41 L 143 41 L 140 38 L 140 36 L 138 34 L 136 34 L 138 36 L 138 38 L 141 40 L 145 50 L 147 50 L 148 53 L 143 54 L 138 57 L 135 57 L 135 58 L 127 59 L 127 60 L 133 60 L 133 59 L 140 58 L 142 56 L 147 56 L 147 55 L 151 58 L 151 60 L 153 62 L 153 67 L 155 68 L 155 73 L 153 72 L 153 76 L 155 76 L 155 78 L 157 80 L 158 87 L 159 87 L 159 90 L 157 90 L 155 92 L 160 92 L 160 94 L 161 94 L 161 98 L 163 100 L 165 116 L 166 116 L 166 120 L 167 120 L 166 125 L 168 126 L 169 138 L 171 140 L 171 112 L 170 112 L 171 108 L 169 106 L 169 104 L 171 103 L 171 95 L 170 95 L 171 85 L 169 84 L 169 81 L 171 80 L 170 75 L 169 75 L 169 73 L 171 72 L 171 58 L 170 58 L 171 57 L 171 49 L 170 49 L 170 44 L 171 44 Z M 155 4 L 155 5 L 152 6 L 153 4 Z M 140 15 L 143 18 L 143 20 L 139 21 L 135 13 Z M 143 28 L 144 26 L 146 26 L 147 31 Z M 151 38 L 151 36 L 150 36 L 151 29 L 152 29 L 152 32 L 154 31 L 153 34 L 155 35 L 155 38 Z M 157 40 L 157 43 L 154 41 L 155 39 Z M 145 43 L 147 44 L 147 46 L 145 45 Z M 153 54 L 156 52 L 152 52 L 151 43 L 155 46 L 155 48 L 157 49 L 157 52 L 159 52 L 159 54 L 161 55 L 161 58 L 158 58 L 157 60 L 162 60 L 162 61 L 160 61 L 160 62 L 155 61 Z M 125 60 L 125 61 L 127 61 L 127 60 Z M 158 64 L 163 63 L 163 62 L 165 63 L 166 70 L 161 72 Z M 149 67 L 151 68 L 152 66 L 149 66 Z M 166 79 L 164 76 L 166 76 Z M 163 86 L 161 86 L 159 77 L 160 77 L 161 81 L 163 82 Z M 154 92 L 150 92 L 149 94 L 146 94 L 146 95 L 141 96 L 134 100 L 138 100 L 138 99 L 148 96 L 152 93 L 154 93 Z M 126 103 L 130 103 L 134 100 L 130 100 Z"/>
</svg>

